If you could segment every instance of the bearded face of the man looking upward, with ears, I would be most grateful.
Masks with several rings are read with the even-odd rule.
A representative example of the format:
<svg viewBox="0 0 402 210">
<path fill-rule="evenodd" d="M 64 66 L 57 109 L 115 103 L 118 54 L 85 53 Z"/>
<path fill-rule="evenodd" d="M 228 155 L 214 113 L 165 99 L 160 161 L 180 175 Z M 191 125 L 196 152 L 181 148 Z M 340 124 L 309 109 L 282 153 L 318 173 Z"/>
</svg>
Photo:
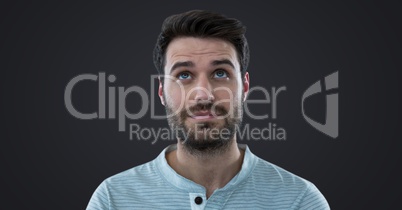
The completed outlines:
<svg viewBox="0 0 402 210">
<path fill-rule="evenodd" d="M 168 122 L 190 152 L 219 152 L 235 139 L 249 89 L 237 53 L 220 39 L 182 37 L 166 51 L 159 96 Z"/>
</svg>

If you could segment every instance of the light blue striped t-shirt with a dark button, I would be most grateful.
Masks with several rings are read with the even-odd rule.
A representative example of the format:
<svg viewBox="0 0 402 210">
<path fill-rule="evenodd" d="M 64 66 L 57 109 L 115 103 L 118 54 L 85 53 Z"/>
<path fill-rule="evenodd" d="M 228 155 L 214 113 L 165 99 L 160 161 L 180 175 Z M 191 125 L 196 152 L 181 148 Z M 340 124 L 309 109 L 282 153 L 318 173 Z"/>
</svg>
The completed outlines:
<svg viewBox="0 0 402 210">
<path fill-rule="evenodd" d="M 240 172 L 206 199 L 203 186 L 177 174 L 165 153 L 103 181 L 87 206 L 95 209 L 329 209 L 311 182 L 250 152 L 246 145 Z"/>
</svg>

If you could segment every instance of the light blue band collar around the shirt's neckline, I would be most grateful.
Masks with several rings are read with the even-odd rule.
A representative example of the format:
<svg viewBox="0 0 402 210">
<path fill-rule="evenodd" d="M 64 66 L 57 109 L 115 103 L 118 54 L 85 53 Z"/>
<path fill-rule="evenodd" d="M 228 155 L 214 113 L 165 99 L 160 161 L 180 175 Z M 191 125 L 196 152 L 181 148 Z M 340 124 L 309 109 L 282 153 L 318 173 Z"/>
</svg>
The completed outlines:
<svg viewBox="0 0 402 210">
<path fill-rule="evenodd" d="M 229 183 L 227 183 L 223 188 L 219 189 L 219 191 L 230 190 L 242 183 L 247 179 L 256 165 L 257 157 L 251 153 L 248 146 L 245 144 L 238 144 L 238 147 L 245 151 L 241 170 L 229 181 Z M 156 167 L 159 171 L 159 174 L 161 174 L 161 176 L 165 178 L 168 183 L 172 184 L 176 188 L 179 188 L 180 190 L 192 193 L 204 193 L 205 188 L 203 186 L 179 175 L 167 163 L 166 153 L 175 149 L 177 149 L 176 144 L 170 145 L 166 147 L 156 158 Z"/>
</svg>

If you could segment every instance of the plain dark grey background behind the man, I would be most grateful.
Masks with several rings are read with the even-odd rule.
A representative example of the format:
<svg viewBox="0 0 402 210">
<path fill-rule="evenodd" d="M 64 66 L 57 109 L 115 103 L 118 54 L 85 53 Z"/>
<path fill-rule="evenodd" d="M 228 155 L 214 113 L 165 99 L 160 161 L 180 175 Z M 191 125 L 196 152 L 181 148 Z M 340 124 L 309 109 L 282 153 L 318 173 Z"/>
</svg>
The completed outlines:
<svg viewBox="0 0 402 210">
<path fill-rule="evenodd" d="M 315 183 L 333 209 L 391 209 L 398 202 L 401 159 L 401 5 L 243 1 L 147 1 L 0 5 L 1 203 L 4 209 L 84 209 L 105 178 L 152 160 L 173 141 L 129 140 L 117 120 L 79 120 L 64 105 L 64 89 L 84 73 L 114 74 L 113 86 L 150 89 L 152 49 L 165 17 L 208 9 L 248 28 L 251 85 L 286 86 L 278 119 L 286 141 L 240 141 L 258 156 Z M 339 70 L 340 135 L 303 119 L 301 95 Z M 97 84 L 75 87 L 74 105 L 97 110 Z M 258 94 L 251 96 L 258 98 Z M 163 107 L 156 104 L 157 113 Z M 139 110 L 138 95 L 127 98 Z M 323 121 L 324 96 L 307 112 Z M 255 105 L 268 113 L 268 105 Z M 142 127 L 167 127 L 151 120 Z M 155 198 L 158 202 L 158 198 Z"/>
</svg>

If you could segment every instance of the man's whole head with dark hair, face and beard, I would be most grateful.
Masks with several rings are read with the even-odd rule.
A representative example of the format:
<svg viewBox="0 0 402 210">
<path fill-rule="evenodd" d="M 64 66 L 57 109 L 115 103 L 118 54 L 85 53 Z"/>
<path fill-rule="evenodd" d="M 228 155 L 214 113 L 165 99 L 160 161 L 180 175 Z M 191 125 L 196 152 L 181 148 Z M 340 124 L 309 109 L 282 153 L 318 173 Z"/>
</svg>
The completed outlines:
<svg viewBox="0 0 402 210">
<path fill-rule="evenodd" d="M 195 155 L 219 154 L 235 141 L 249 89 L 245 27 L 205 11 L 167 18 L 154 50 L 168 122 Z"/>
</svg>

